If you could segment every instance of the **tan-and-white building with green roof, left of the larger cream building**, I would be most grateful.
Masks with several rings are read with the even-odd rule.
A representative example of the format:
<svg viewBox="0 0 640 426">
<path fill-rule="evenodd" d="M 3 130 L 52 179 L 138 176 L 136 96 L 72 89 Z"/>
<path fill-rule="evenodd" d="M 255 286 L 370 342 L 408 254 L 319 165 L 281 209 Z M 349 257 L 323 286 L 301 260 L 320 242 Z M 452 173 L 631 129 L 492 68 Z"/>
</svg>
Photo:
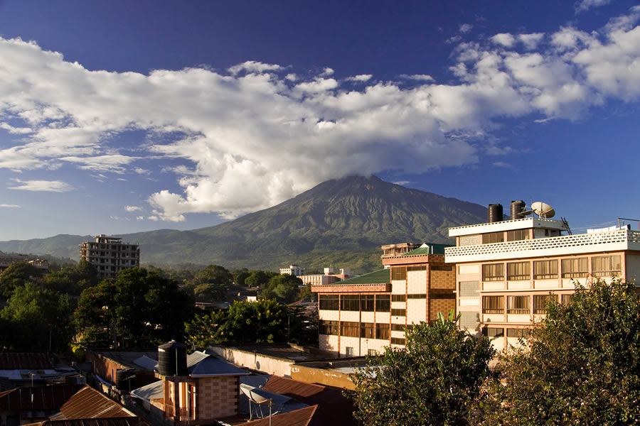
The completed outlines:
<svg viewBox="0 0 640 426">
<path fill-rule="evenodd" d="M 318 293 L 320 349 L 363 356 L 404 346 L 407 327 L 455 309 L 455 272 L 444 263 L 444 245 L 383 254 L 382 261 L 379 271 L 311 286 Z"/>
</svg>

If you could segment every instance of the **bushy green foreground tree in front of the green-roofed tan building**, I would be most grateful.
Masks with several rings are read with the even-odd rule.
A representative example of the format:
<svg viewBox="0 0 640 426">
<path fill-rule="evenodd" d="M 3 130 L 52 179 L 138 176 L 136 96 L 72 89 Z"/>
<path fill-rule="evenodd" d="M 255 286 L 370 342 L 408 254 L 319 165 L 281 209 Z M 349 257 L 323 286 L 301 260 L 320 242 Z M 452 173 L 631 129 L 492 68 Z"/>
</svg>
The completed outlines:
<svg viewBox="0 0 640 426">
<path fill-rule="evenodd" d="M 356 373 L 354 416 L 364 425 L 465 425 L 489 374 L 494 349 L 439 315 L 406 331 L 405 349 L 386 348 Z"/>
</svg>

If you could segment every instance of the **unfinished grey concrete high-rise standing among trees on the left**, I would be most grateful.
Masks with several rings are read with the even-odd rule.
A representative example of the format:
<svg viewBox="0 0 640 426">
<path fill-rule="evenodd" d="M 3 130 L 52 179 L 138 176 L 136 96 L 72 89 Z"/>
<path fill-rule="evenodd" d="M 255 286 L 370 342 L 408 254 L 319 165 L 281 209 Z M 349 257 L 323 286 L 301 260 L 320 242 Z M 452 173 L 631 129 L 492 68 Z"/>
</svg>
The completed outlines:
<svg viewBox="0 0 640 426">
<path fill-rule="evenodd" d="M 140 266 L 140 248 L 121 238 L 100 234 L 80 244 L 80 259 L 91 263 L 98 278 L 116 278 L 119 271 Z"/>
</svg>

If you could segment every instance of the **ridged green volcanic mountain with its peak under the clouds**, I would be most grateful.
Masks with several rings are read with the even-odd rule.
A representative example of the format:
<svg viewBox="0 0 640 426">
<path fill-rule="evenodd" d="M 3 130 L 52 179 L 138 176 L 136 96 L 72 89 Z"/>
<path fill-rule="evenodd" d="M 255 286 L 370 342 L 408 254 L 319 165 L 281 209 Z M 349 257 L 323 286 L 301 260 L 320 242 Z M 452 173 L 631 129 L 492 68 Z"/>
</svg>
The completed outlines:
<svg viewBox="0 0 640 426">
<path fill-rule="evenodd" d="M 216 263 L 264 268 L 333 264 L 366 272 L 380 266 L 380 245 L 453 243 L 449 226 L 484 222 L 486 208 L 371 178 L 329 180 L 269 209 L 191 231 L 124 234 L 142 263 Z M 97 230 L 100 233 L 100 230 Z M 86 236 L 0 241 L 0 250 L 78 258 Z"/>
</svg>

